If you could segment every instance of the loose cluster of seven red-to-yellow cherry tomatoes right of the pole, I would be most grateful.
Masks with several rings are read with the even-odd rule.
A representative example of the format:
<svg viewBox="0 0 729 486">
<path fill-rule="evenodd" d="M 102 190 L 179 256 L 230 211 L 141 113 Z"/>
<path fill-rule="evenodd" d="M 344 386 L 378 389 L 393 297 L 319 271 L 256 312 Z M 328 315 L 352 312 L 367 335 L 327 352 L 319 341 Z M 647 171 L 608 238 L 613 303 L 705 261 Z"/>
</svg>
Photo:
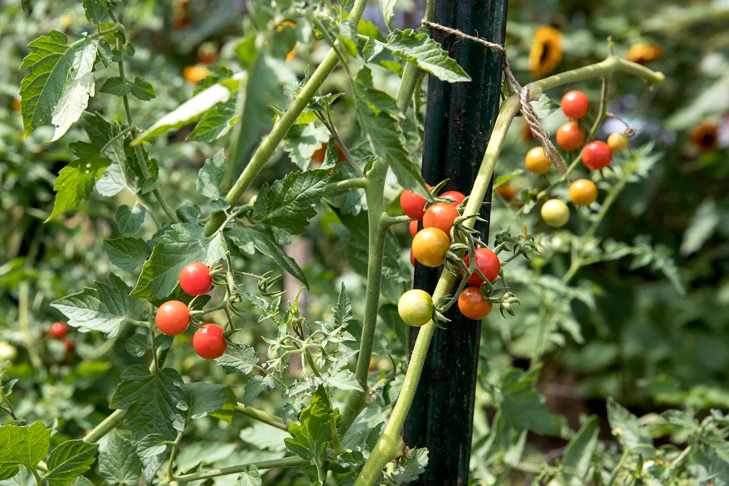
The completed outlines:
<svg viewBox="0 0 729 486">
<path fill-rule="evenodd" d="M 607 143 L 596 140 L 582 146 L 587 133 L 580 126 L 579 120 L 585 117 L 589 108 L 588 97 L 582 91 L 572 90 L 566 93 L 561 100 L 561 109 L 569 121 L 558 128 L 555 138 L 558 146 L 568 152 L 582 147 L 582 164 L 590 171 L 599 171 L 610 164 L 613 152 L 620 152 L 628 147 L 628 135 L 612 133 Z M 529 149 L 524 162 L 527 170 L 537 174 L 545 174 L 550 168 L 550 161 L 541 146 Z M 578 179 L 569 187 L 569 200 L 574 205 L 588 206 L 597 200 L 597 196 L 597 186 L 589 179 Z M 552 227 L 564 226 L 569 221 L 569 207 L 558 199 L 547 200 L 540 213 L 542 219 Z"/>
</svg>

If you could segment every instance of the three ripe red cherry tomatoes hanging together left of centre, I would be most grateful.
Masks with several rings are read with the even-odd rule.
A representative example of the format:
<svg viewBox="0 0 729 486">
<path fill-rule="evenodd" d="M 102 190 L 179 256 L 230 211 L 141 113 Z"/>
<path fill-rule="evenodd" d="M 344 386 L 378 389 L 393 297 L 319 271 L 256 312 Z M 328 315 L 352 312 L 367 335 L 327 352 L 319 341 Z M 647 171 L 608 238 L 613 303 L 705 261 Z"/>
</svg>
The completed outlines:
<svg viewBox="0 0 729 486">
<path fill-rule="evenodd" d="M 206 294 L 212 287 L 210 268 L 202 262 L 188 263 L 179 275 L 180 288 L 190 295 Z M 157 309 L 155 322 L 161 332 L 176 336 L 187 331 L 190 326 L 190 308 L 179 300 L 168 300 Z M 227 349 L 222 327 L 217 324 L 204 324 L 192 337 L 192 348 L 203 358 L 215 359 Z"/>
</svg>

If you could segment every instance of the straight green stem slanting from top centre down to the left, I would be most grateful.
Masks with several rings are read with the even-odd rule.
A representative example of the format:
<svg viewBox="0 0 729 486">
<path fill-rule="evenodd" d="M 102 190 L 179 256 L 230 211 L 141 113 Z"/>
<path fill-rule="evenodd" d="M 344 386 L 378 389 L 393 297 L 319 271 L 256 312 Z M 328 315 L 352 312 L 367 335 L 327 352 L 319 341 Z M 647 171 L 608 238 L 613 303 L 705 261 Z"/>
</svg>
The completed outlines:
<svg viewBox="0 0 729 486">
<path fill-rule="evenodd" d="M 349 14 L 349 20 L 354 22 L 355 25 L 362 17 L 364 7 L 367 7 L 367 0 L 355 0 L 354 7 L 352 7 Z M 231 206 L 238 204 L 238 200 L 241 199 L 243 193 L 246 192 L 246 189 L 251 186 L 263 166 L 271 157 L 273 157 L 273 154 L 276 153 L 278 144 L 281 144 L 281 141 L 284 139 L 284 136 L 286 136 L 289 128 L 294 125 L 301 112 L 306 108 L 309 101 L 311 101 L 311 98 L 313 98 L 313 95 L 316 95 L 316 91 L 319 90 L 319 87 L 321 87 L 324 83 L 324 80 L 327 79 L 335 66 L 337 66 L 338 60 L 339 57 L 337 55 L 337 51 L 334 48 L 331 48 L 324 57 L 324 60 L 322 60 L 321 64 L 319 64 L 319 67 L 316 68 L 316 71 L 313 72 L 311 78 L 309 78 L 308 82 L 306 82 L 300 93 L 294 99 L 292 105 L 289 106 L 289 109 L 287 109 L 281 118 L 278 119 L 276 125 L 273 125 L 273 129 L 258 146 L 251 157 L 251 160 L 249 160 L 248 165 L 246 165 L 246 168 L 243 169 L 241 176 L 238 177 L 238 180 L 235 181 L 233 187 L 231 187 L 230 191 L 228 191 L 225 196 L 225 200 L 228 204 Z M 220 223 L 223 218 L 224 216 L 222 213 L 215 213 L 211 217 L 210 221 L 208 221 L 208 224 L 206 224 L 206 234 L 211 235 L 215 230 L 217 230 L 217 228 L 220 227 Z"/>
</svg>

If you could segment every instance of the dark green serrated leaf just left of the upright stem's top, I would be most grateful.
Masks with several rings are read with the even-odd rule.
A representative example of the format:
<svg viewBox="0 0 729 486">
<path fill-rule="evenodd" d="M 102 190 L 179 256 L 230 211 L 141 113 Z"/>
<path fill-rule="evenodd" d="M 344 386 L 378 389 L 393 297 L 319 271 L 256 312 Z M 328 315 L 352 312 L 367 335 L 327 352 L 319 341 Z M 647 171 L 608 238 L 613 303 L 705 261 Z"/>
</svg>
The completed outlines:
<svg viewBox="0 0 729 486">
<path fill-rule="evenodd" d="M 253 205 L 254 220 L 290 235 L 303 233 L 309 220 L 316 216 L 314 206 L 324 195 L 330 177 L 331 171 L 324 169 L 292 172 L 274 182 L 270 189 L 263 186 Z"/>
</svg>

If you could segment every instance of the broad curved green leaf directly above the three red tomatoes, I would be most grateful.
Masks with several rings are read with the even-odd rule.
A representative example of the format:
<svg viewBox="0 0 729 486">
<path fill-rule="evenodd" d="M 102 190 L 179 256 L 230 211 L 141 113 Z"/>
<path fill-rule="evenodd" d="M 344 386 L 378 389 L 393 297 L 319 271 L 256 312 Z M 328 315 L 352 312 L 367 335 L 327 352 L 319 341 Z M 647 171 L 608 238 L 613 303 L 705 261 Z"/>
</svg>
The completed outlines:
<svg viewBox="0 0 729 486">
<path fill-rule="evenodd" d="M 173 224 L 172 230 L 157 237 L 152 256 L 144 262 L 131 296 L 155 299 L 171 294 L 179 282 L 182 267 L 190 262 L 211 265 L 225 256 L 225 241 L 219 232 L 211 236 L 198 224 Z"/>
</svg>

